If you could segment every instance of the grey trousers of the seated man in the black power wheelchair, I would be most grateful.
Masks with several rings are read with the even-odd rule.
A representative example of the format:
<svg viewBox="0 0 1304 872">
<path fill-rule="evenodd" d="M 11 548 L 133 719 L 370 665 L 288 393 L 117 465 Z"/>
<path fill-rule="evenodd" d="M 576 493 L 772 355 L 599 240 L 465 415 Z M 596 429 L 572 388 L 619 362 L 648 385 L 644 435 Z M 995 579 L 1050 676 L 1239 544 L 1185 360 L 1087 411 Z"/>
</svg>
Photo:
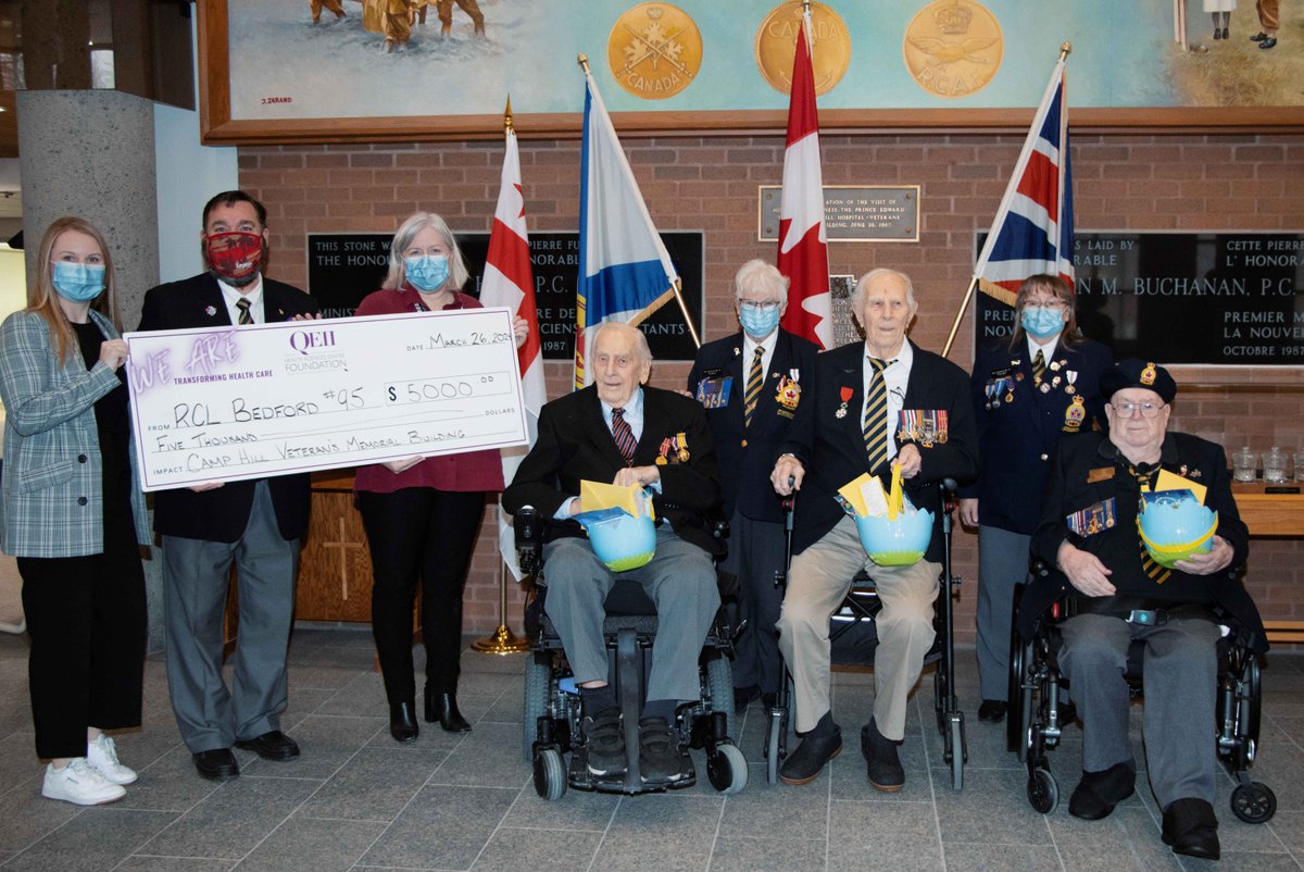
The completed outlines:
<svg viewBox="0 0 1304 872">
<path fill-rule="evenodd" d="M 657 633 L 647 698 L 698 700 L 702 683 L 698 657 L 720 610 L 720 589 L 711 555 L 681 539 L 662 523 L 656 556 L 639 569 L 613 573 L 593 553 L 588 539 L 557 539 L 544 547 L 548 599 L 545 611 L 561 636 L 575 683 L 606 680 L 602 603 L 617 577 L 638 581 L 656 603 Z"/>
</svg>

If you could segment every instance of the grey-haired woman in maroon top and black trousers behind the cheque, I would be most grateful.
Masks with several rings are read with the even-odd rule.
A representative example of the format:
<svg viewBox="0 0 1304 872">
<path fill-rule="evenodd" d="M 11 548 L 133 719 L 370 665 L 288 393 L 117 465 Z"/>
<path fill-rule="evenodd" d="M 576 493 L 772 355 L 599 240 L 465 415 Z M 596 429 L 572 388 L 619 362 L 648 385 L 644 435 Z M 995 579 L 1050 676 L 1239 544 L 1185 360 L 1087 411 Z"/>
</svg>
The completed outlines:
<svg viewBox="0 0 1304 872">
<path fill-rule="evenodd" d="M 480 308 L 459 288 L 468 278 L 456 239 L 443 218 L 417 213 L 403 222 L 390 245 L 390 272 L 379 291 L 355 315 L 438 312 Z M 516 345 L 526 321 L 516 319 Z M 449 732 L 471 724 L 458 711 L 462 651 L 462 589 L 484 516 L 486 491 L 501 491 L 497 450 L 443 457 L 409 457 L 363 466 L 353 488 L 372 548 L 372 632 L 390 702 L 390 734 L 412 741 L 416 679 L 412 668 L 412 602 L 421 581 L 425 641 L 425 719 Z"/>
</svg>

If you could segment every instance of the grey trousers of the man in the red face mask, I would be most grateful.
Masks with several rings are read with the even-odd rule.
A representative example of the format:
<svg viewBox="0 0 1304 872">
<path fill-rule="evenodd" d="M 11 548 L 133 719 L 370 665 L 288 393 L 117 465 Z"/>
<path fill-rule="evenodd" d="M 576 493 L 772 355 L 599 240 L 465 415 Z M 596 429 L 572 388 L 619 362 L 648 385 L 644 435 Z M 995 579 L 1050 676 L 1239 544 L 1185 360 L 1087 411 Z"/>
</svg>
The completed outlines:
<svg viewBox="0 0 1304 872">
<path fill-rule="evenodd" d="M 232 560 L 240 628 L 228 691 L 222 616 Z M 258 482 L 249 526 L 237 542 L 163 537 L 168 696 L 192 753 L 280 728 L 297 567 L 299 540 L 280 538 L 266 482 Z"/>
</svg>

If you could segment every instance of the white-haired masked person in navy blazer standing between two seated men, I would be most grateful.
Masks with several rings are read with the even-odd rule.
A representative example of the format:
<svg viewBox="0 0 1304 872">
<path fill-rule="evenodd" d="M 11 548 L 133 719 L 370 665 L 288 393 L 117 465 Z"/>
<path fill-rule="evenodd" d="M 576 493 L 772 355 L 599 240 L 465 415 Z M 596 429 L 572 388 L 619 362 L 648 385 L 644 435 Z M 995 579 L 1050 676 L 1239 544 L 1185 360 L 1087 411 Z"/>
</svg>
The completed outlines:
<svg viewBox="0 0 1304 872">
<path fill-rule="evenodd" d="M 705 406 L 720 466 L 728 470 L 720 484 L 729 556 L 720 568 L 738 578 L 733 677 L 741 711 L 756 696 L 772 705 L 784 679 L 775 632 L 782 603 L 775 572 L 786 559 L 784 508 L 769 473 L 797 416 L 803 379 L 815 377 L 819 346 L 780 329 L 788 278 L 763 260 L 738 269 L 734 307 L 742 330 L 698 350 L 689 393 Z"/>
</svg>

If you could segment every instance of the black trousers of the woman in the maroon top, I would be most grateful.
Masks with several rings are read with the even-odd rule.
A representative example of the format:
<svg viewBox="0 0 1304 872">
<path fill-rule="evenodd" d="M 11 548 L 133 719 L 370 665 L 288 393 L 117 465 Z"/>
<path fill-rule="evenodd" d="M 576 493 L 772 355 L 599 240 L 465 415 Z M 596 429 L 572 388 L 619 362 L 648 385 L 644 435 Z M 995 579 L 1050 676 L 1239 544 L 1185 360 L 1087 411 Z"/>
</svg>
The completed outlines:
<svg viewBox="0 0 1304 872">
<path fill-rule="evenodd" d="M 357 495 L 372 548 L 372 633 L 391 705 L 416 698 L 412 603 L 417 581 L 426 684 L 433 693 L 458 689 L 462 590 L 484 505 L 482 491 L 412 487 Z"/>
</svg>

